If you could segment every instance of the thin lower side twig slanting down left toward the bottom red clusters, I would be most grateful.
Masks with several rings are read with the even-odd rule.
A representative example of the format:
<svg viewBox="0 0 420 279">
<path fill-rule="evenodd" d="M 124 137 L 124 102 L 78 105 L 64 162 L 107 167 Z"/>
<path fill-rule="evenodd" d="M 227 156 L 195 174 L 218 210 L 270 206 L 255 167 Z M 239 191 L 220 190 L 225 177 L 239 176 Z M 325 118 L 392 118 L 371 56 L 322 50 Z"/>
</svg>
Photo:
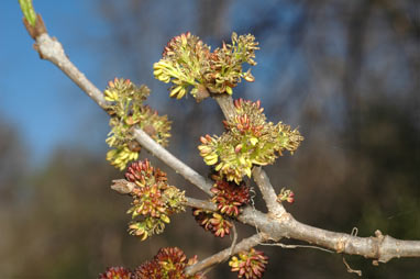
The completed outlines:
<svg viewBox="0 0 420 279">
<path fill-rule="evenodd" d="M 211 257 L 208 257 L 196 265 L 192 265 L 190 267 L 186 268 L 186 275 L 191 276 L 195 275 L 201 270 L 205 270 L 213 265 L 223 263 L 229 257 L 231 257 L 234 254 L 237 254 L 242 250 L 248 250 L 252 247 L 267 241 L 262 234 L 255 234 L 248 238 L 243 239 L 242 242 L 237 243 L 233 249 L 232 247 L 229 247 L 224 250 L 219 252 L 218 254 L 214 254 Z"/>
</svg>

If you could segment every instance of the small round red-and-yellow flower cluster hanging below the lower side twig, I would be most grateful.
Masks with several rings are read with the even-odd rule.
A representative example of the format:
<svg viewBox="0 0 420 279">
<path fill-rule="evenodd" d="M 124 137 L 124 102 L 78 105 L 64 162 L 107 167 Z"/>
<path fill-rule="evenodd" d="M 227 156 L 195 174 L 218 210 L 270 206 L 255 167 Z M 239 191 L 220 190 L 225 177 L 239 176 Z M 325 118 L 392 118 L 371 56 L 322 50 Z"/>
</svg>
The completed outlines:
<svg viewBox="0 0 420 279">
<path fill-rule="evenodd" d="M 251 248 L 248 252 L 240 252 L 237 256 L 233 256 L 229 261 L 231 271 L 237 271 L 237 278 L 259 279 L 263 277 L 268 263 L 268 257 L 263 252 Z"/>
</svg>

